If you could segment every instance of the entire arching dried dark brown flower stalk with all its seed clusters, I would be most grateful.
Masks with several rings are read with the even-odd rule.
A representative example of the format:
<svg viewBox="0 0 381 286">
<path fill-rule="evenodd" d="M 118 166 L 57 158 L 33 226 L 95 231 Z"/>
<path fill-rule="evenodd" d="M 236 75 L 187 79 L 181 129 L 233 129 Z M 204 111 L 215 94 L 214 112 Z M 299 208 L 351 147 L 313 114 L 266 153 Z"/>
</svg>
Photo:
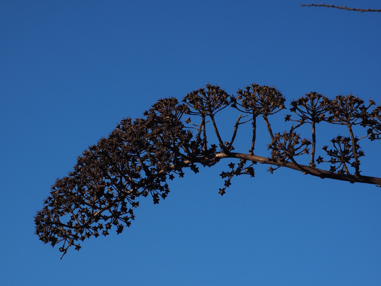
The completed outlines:
<svg viewBox="0 0 381 286">
<path fill-rule="evenodd" d="M 134 220 L 134 208 L 139 206 L 141 197 L 149 196 L 158 204 L 170 192 L 168 179 L 184 177 L 187 168 L 198 173 L 200 167 L 211 167 L 224 158 L 238 162 L 231 162 L 229 169 L 221 173 L 221 196 L 234 176 L 254 177 L 253 166 L 257 162 L 270 165 L 271 173 L 287 167 L 320 178 L 381 185 L 380 178 L 360 174 L 359 158 L 364 151 L 353 128 L 363 127 L 365 137 L 371 141 L 380 139 L 381 106 L 370 111 L 372 105 L 374 102 L 370 101 L 365 106 L 363 100 L 353 95 L 338 95 L 330 100 L 310 92 L 291 101 L 290 111 L 296 119 L 286 114 L 285 121 L 297 122 L 295 127 L 274 134 L 269 117 L 286 109 L 285 98 L 274 87 L 251 84 L 236 95 L 229 95 L 219 86 L 208 84 L 187 94 L 182 103 L 176 98 L 160 99 L 141 118 L 123 119 L 107 138 L 101 138 L 78 157 L 66 177 L 56 180 L 43 208 L 35 215 L 36 234 L 44 243 L 59 244 L 63 256 L 70 246 L 79 250 L 79 241 L 91 236 L 107 236 L 111 229 L 122 233 Z M 228 111 L 241 114 L 232 124 L 232 136 L 223 138 L 221 134 L 226 132 L 220 132 L 216 114 Z M 269 154 L 264 156 L 255 152 L 260 115 L 269 133 Z M 233 152 L 239 127 L 246 123 L 252 125 L 252 132 L 247 134 L 249 151 Z M 296 133 L 304 124 L 311 124 L 311 139 Z M 321 140 L 321 150 L 325 152 L 321 155 L 330 156 L 329 160 L 320 155 L 315 159 L 319 150 L 317 124 L 347 126 L 348 136 L 331 140 L 331 148 L 325 145 L 325 138 Z M 207 129 L 207 125 L 211 128 Z M 303 154 L 310 154 L 308 165 Z M 328 162 L 330 169 L 318 169 L 315 162 Z"/>
</svg>

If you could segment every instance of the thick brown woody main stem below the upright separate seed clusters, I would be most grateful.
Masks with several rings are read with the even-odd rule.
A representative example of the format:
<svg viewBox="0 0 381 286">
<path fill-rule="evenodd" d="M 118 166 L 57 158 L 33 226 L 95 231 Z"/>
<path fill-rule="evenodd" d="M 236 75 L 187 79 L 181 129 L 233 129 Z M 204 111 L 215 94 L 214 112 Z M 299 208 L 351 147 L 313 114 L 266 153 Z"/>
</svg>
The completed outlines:
<svg viewBox="0 0 381 286">
<path fill-rule="evenodd" d="M 354 175 L 338 174 L 335 172 L 329 172 L 322 169 L 312 168 L 306 165 L 295 164 L 293 162 L 280 162 L 271 158 L 266 158 L 266 157 L 261 157 L 256 155 L 231 152 L 228 154 L 223 154 L 223 153 L 216 154 L 216 158 L 218 159 L 237 158 L 237 159 L 244 159 L 247 161 L 259 162 L 261 164 L 269 164 L 269 165 L 275 165 L 275 166 L 282 165 L 282 167 L 297 170 L 299 172 L 303 172 L 303 174 L 309 174 L 319 178 L 329 178 L 334 180 L 346 181 L 350 183 L 365 183 L 365 184 L 373 184 L 373 185 L 381 186 L 381 178 L 377 178 L 377 177 L 368 177 L 368 176 L 356 177 Z"/>
</svg>

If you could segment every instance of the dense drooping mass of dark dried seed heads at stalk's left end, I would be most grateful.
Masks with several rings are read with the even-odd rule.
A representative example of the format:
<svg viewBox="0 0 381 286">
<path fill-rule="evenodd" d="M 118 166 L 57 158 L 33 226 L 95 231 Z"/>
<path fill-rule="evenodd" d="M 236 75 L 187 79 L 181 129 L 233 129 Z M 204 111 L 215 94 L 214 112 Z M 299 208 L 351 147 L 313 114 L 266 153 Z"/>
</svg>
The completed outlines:
<svg viewBox="0 0 381 286">
<path fill-rule="evenodd" d="M 65 254 L 69 246 L 80 249 L 78 239 L 97 237 L 101 230 L 108 235 L 112 225 L 121 233 L 134 220 L 139 196 L 150 195 L 157 204 L 169 193 L 167 178 L 182 177 L 183 167 L 198 172 L 200 146 L 181 121 L 187 111 L 175 98 L 159 100 L 146 118 L 123 119 L 108 138 L 84 151 L 37 212 L 40 239 L 52 246 L 62 242 Z"/>
</svg>

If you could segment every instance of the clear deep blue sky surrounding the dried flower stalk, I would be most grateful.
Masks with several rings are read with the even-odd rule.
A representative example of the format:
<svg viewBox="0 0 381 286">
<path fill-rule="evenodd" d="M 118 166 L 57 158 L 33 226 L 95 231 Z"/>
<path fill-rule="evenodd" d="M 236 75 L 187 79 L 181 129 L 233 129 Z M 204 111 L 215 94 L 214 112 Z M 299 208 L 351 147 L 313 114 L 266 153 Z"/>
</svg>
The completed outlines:
<svg viewBox="0 0 381 286">
<path fill-rule="evenodd" d="M 54 180 L 158 98 L 208 82 L 229 93 L 255 82 L 274 85 L 288 103 L 317 91 L 381 104 L 381 13 L 303 3 L 3 1 L 1 283 L 379 285 L 381 188 L 293 170 L 271 175 L 261 165 L 223 197 L 218 174 L 230 161 L 188 172 L 159 205 L 142 200 L 121 235 L 88 239 L 62 260 L 34 235 Z M 362 145 L 363 174 L 380 176 L 379 142 Z"/>
</svg>

